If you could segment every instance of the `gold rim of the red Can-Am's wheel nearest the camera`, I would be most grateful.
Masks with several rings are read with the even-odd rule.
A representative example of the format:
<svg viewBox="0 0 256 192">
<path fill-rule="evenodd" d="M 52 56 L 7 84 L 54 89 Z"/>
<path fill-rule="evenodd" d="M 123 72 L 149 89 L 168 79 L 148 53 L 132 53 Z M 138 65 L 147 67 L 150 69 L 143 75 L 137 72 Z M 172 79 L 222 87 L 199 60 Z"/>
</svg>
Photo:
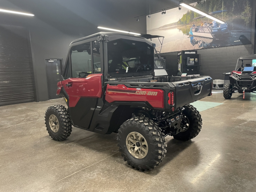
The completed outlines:
<svg viewBox="0 0 256 192">
<path fill-rule="evenodd" d="M 137 159 L 142 159 L 148 154 L 148 143 L 138 132 L 131 132 L 126 137 L 126 147 L 131 155 Z"/>
</svg>

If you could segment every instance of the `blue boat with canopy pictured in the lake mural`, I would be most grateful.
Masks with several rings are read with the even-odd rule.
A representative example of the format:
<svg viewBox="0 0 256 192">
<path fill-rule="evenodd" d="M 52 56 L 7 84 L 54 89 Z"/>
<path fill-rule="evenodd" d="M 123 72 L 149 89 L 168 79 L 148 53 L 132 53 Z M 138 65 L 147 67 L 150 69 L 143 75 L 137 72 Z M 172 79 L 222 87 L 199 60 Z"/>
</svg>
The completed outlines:
<svg viewBox="0 0 256 192">
<path fill-rule="evenodd" d="M 209 14 L 214 15 L 214 14 L 218 14 L 218 13 L 222 13 L 222 12 L 227 12 L 227 10 L 215 11 L 215 12 L 211 12 Z M 200 17 L 196 17 L 193 19 L 193 20 L 201 19 L 203 25 L 201 25 L 201 26 L 193 25 L 190 28 L 189 35 L 215 39 L 215 38 L 218 38 L 219 36 L 229 34 L 227 23 L 219 24 L 216 21 L 207 23 L 206 21 L 203 20 L 204 17 L 205 16 L 202 15 Z"/>
</svg>

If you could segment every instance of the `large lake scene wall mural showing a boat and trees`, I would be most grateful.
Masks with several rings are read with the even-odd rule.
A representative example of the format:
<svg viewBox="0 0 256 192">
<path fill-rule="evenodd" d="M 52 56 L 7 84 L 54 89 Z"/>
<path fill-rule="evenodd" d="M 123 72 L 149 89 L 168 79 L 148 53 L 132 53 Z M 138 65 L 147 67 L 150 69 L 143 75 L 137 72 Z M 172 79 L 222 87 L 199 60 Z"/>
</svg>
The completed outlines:
<svg viewBox="0 0 256 192">
<path fill-rule="evenodd" d="M 252 0 L 204 0 L 190 5 L 224 20 L 216 23 L 182 7 L 147 17 L 147 34 L 164 36 L 161 52 L 175 52 L 251 43 Z M 223 8 L 223 9 L 222 9 Z M 160 50 L 160 43 L 156 43 Z"/>
</svg>

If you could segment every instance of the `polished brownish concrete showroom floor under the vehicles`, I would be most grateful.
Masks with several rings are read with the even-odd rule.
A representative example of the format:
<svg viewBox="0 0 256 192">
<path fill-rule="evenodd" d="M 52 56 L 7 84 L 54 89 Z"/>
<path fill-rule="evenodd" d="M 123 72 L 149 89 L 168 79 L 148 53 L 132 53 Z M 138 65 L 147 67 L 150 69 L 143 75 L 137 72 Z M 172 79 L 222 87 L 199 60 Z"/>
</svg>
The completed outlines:
<svg viewBox="0 0 256 192">
<path fill-rule="evenodd" d="M 201 101 L 203 128 L 191 141 L 166 137 L 167 155 L 149 172 L 130 168 L 116 134 L 73 128 L 54 141 L 44 112 L 61 99 L 0 107 L 0 191 L 256 191 L 256 94 L 225 100 L 220 91 Z"/>
</svg>

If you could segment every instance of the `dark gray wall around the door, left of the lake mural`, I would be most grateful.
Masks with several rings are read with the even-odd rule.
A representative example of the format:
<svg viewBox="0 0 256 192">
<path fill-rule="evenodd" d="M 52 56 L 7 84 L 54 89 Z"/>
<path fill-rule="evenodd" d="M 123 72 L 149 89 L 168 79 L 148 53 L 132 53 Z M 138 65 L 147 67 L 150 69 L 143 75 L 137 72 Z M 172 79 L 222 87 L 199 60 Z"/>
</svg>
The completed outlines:
<svg viewBox="0 0 256 192">
<path fill-rule="evenodd" d="M 2 0 L 1 9 L 28 12 L 34 17 L 0 12 L 0 24 L 28 28 L 31 37 L 36 101 L 48 100 L 45 58 L 62 58 L 74 39 L 105 26 L 146 33 L 146 0 Z"/>
</svg>

